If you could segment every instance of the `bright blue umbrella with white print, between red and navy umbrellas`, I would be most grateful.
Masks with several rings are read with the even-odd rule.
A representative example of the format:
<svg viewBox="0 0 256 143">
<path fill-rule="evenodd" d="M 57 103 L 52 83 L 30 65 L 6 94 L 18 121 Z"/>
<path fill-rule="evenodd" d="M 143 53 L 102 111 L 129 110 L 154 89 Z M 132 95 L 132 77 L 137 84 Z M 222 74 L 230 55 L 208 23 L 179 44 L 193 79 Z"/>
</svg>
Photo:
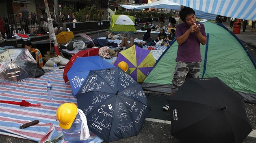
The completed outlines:
<svg viewBox="0 0 256 143">
<path fill-rule="evenodd" d="M 76 95 L 79 88 L 85 82 L 90 70 L 115 67 L 100 56 L 76 58 L 76 61 L 67 72 L 67 78 L 71 85 L 73 94 Z"/>
</svg>

